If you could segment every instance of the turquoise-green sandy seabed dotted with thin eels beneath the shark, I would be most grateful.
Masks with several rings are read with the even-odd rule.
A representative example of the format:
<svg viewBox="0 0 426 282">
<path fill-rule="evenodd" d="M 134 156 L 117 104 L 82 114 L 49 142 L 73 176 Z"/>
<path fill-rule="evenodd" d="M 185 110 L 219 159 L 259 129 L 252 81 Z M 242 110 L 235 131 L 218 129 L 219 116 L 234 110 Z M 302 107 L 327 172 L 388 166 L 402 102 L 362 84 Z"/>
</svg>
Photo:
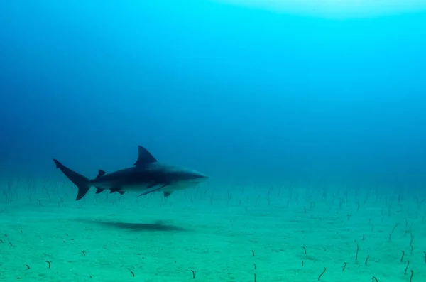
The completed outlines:
<svg viewBox="0 0 426 282">
<path fill-rule="evenodd" d="M 16 185 L 0 190 L 0 281 L 426 281 L 421 197 L 200 187 L 76 202 L 72 185 Z"/>
</svg>

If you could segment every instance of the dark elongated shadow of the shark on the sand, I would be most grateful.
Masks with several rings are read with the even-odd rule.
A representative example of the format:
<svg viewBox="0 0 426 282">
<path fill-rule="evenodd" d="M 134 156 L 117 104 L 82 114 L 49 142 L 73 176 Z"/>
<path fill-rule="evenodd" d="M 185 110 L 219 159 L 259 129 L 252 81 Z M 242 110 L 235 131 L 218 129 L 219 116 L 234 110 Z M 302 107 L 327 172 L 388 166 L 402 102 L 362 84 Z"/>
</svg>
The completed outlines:
<svg viewBox="0 0 426 282">
<path fill-rule="evenodd" d="M 105 227 L 112 227 L 117 229 L 129 229 L 133 231 L 189 231 L 189 229 L 178 227 L 173 224 L 166 224 L 162 221 L 157 221 L 153 223 L 133 223 L 133 222 L 112 222 L 112 221 L 104 221 L 99 219 L 75 219 L 77 222 L 84 222 L 89 224 L 98 224 Z"/>
</svg>

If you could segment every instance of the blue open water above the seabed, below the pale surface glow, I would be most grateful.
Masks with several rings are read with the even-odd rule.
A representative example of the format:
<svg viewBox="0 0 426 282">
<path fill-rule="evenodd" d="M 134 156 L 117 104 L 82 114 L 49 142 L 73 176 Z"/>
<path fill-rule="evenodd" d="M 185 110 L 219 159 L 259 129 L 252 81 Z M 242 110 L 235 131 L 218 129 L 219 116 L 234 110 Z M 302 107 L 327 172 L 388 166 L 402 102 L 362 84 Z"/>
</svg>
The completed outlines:
<svg viewBox="0 0 426 282">
<path fill-rule="evenodd" d="M 424 189 L 424 50 L 425 12 L 2 1 L 0 173 L 93 177 L 141 144 L 217 183 Z"/>
</svg>

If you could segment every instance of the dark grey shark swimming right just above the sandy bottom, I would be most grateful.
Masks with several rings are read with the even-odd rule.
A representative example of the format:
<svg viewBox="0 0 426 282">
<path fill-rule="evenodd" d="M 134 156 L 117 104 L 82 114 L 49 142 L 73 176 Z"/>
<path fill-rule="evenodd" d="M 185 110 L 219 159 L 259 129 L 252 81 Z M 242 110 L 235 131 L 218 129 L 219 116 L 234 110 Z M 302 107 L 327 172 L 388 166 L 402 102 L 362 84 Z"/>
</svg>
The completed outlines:
<svg viewBox="0 0 426 282">
<path fill-rule="evenodd" d="M 193 187 L 208 178 L 194 170 L 159 163 L 143 146 L 138 146 L 138 160 L 133 166 L 111 173 L 99 170 L 94 179 L 70 170 L 55 158 L 53 161 L 56 168 L 77 186 L 76 201 L 82 199 L 92 186 L 97 188 L 96 194 L 104 190 L 109 190 L 110 193 L 119 192 L 121 195 L 126 191 L 138 191 L 142 192 L 139 195 L 142 196 L 162 191 L 164 196 L 168 197 L 175 190 Z"/>
</svg>

